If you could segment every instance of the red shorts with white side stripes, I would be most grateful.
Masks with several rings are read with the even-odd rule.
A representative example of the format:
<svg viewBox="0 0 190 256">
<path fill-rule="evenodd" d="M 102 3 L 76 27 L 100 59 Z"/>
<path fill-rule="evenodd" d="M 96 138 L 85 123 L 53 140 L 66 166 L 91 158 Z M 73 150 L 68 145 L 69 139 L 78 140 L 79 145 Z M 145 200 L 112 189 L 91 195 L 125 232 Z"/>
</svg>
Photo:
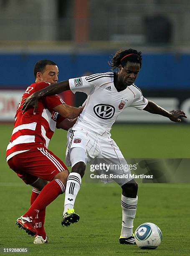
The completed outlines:
<svg viewBox="0 0 190 256">
<path fill-rule="evenodd" d="M 67 170 L 63 162 L 47 148 L 19 153 L 8 160 L 8 165 L 26 184 L 33 184 L 38 178 L 51 181 L 56 174 Z"/>
</svg>

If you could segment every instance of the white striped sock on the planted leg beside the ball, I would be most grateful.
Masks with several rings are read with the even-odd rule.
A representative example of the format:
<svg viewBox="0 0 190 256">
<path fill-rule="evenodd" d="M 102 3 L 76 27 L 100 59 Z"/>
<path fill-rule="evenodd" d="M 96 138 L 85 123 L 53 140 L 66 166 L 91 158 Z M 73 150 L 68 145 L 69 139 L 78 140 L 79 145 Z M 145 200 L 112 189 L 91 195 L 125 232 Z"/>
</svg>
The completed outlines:
<svg viewBox="0 0 190 256">
<path fill-rule="evenodd" d="M 133 234 L 133 220 L 136 215 L 137 200 L 138 197 L 129 198 L 122 195 L 122 237 L 128 238 Z"/>
</svg>

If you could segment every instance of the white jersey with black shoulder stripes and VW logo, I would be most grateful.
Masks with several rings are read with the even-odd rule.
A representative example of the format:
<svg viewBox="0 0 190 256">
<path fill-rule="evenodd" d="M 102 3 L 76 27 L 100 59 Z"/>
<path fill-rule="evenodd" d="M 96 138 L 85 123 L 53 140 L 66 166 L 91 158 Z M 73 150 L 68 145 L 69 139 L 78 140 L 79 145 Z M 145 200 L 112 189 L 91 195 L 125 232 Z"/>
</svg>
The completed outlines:
<svg viewBox="0 0 190 256">
<path fill-rule="evenodd" d="M 148 100 L 134 84 L 118 92 L 114 86 L 115 72 L 93 74 L 88 77 L 69 79 L 73 93 L 84 92 L 88 95 L 86 106 L 73 128 L 80 126 L 103 134 L 111 130 L 119 113 L 127 107 L 142 110 Z"/>
</svg>

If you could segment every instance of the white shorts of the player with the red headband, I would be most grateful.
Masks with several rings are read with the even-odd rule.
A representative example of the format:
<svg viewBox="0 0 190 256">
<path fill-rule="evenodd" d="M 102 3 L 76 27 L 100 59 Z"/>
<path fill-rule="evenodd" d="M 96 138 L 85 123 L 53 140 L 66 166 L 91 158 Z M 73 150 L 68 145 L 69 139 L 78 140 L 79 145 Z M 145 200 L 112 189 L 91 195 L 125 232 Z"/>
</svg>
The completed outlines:
<svg viewBox="0 0 190 256">
<path fill-rule="evenodd" d="M 127 161 L 115 141 L 107 131 L 102 136 L 86 128 L 70 128 L 67 133 L 66 164 L 74 166 L 83 161 L 91 166 L 101 165 L 96 172 L 101 175 L 101 181 L 108 183 L 117 182 L 120 186 L 129 182 L 132 178 Z M 74 148 L 83 148 L 77 151 L 73 157 Z M 72 157 L 70 157 L 72 149 Z M 86 155 L 85 155 L 86 153 Z"/>
</svg>

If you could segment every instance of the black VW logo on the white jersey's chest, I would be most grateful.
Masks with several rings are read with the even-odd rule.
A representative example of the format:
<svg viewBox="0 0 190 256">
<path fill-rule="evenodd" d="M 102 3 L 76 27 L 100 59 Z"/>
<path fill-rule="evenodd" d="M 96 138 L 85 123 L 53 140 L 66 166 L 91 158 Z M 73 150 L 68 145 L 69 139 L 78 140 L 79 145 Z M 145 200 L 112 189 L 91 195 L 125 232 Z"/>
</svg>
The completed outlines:
<svg viewBox="0 0 190 256">
<path fill-rule="evenodd" d="M 98 104 L 94 106 L 94 113 L 101 119 L 110 119 L 115 113 L 114 106 Z"/>
</svg>

